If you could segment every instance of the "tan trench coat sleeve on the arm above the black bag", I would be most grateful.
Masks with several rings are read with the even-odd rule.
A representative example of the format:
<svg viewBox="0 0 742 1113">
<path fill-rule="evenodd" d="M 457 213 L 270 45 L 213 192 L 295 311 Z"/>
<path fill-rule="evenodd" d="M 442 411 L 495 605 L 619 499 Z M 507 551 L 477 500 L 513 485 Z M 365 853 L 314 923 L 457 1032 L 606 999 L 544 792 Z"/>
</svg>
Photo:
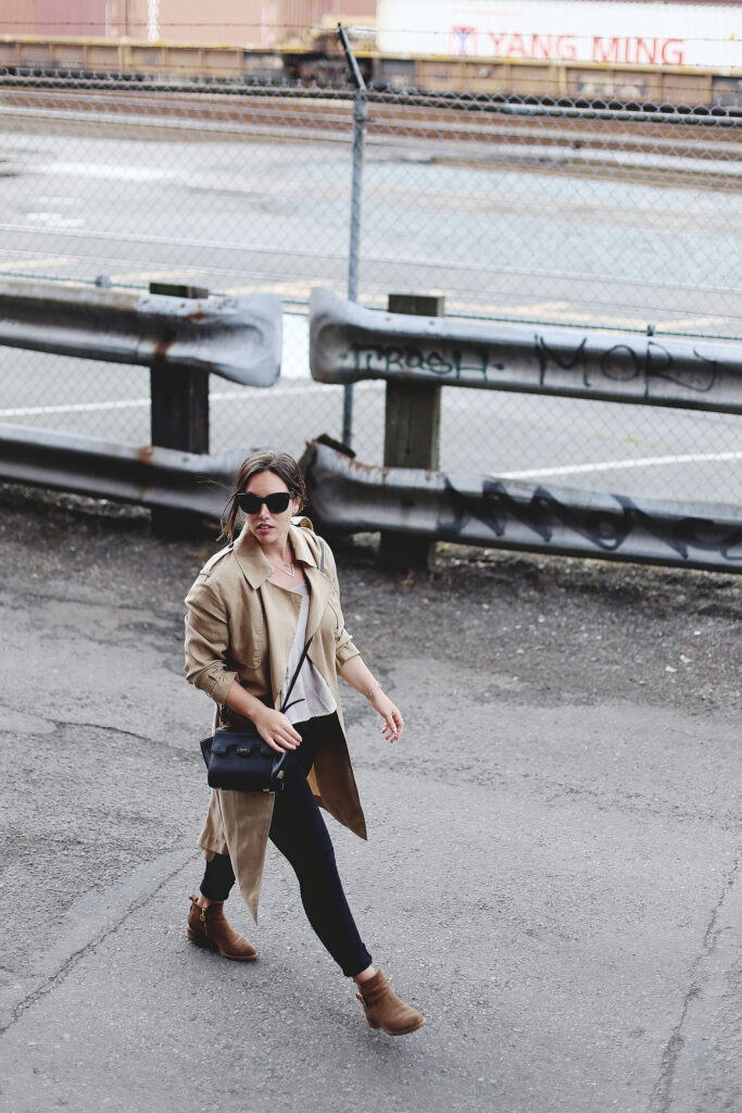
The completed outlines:
<svg viewBox="0 0 742 1113">
<path fill-rule="evenodd" d="M 215 584 L 199 575 L 186 595 L 186 679 L 224 703 L 237 677 L 229 660 L 227 608 Z"/>
</svg>

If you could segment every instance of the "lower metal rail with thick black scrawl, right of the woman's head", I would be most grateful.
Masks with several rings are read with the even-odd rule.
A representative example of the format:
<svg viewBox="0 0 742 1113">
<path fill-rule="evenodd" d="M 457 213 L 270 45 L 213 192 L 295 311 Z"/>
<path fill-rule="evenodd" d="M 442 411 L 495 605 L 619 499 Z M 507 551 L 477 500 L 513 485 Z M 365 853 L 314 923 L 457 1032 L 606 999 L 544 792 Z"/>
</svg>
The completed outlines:
<svg viewBox="0 0 742 1113">
<path fill-rule="evenodd" d="M 406 467 L 372 467 L 313 442 L 313 518 L 330 532 L 383 530 L 493 549 L 742 571 L 742 512 Z"/>
</svg>

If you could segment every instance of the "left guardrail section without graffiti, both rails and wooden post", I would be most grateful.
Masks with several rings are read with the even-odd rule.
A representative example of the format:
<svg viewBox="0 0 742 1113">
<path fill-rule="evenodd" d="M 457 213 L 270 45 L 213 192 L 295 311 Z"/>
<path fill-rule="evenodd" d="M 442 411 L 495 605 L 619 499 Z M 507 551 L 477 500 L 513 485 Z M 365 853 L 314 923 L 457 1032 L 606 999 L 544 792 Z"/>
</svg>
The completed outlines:
<svg viewBox="0 0 742 1113">
<path fill-rule="evenodd" d="M 281 303 L 13 279 L 0 283 L 0 345 L 150 368 L 151 445 L 0 425 L 0 479 L 137 502 L 170 535 L 221 513 L 243 453 L 208 455 L 209 375 L 271 386 Z"/>
</svg>

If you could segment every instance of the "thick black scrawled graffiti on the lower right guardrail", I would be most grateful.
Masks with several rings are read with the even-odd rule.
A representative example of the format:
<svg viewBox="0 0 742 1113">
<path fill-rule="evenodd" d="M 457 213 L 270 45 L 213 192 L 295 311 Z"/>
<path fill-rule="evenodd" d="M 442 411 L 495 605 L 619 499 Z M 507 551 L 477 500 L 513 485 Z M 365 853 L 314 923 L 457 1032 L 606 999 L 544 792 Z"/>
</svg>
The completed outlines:
<svg viewBox="0 0 742 1113">
<path fill-rule="evenodd" d="M 445 509 L 438 513 L 438 536 L 447 540 L 463 538 L 471 522 L 484 525 L 492 532 L 493 541 L 507 539 L 513 525 L 524 528 L 534 535 L 534 543 L 550 545 L 564 543 L 565 534 L 584 538 L 594 545 L 596 555 L 620 554 L 632 534 L 643 534 L 660 546 L 666 546 L 676 558 L 693 559 L 692 550 L 713 553 L 731 565 L 742 562 L 742 523 L 716 522 L 710 518 L 657 516 L 642 510 L 626 495 L 612 494 L 615 510 L 602 506 L 591 509 L 588 502 L 571 505 L 562 502 L 547 487 L 537 486 L 528 500 L 508 492 L 497 480 L 484 479 L 479 494 L 458 491 L 448 477 L 444 482 Z M 520 533 L 522 535 L 522 531 Z M 662 548 L 656 559 L 661 559 Z"/>
</svg>

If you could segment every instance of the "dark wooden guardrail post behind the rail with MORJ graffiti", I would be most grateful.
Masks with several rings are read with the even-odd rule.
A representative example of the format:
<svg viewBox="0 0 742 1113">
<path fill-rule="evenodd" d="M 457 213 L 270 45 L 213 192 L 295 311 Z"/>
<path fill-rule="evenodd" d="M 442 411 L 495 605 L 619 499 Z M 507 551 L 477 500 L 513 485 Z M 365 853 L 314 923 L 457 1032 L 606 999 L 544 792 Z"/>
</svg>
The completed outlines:
<svg viewBox="0 0 742 1113">
<path fill-rule="evenodd" d="M 389 313 L 445 316 L 442 294 L 389 294 Z M 386 467 L 436 471 L 439 461 L 441 387 L 431 383 L 387 382 L 384 429 Z M 428 568 L 435 542 L 403 533 L 382 533 L 379 564 L 390 571 Z"/>
</svg>

